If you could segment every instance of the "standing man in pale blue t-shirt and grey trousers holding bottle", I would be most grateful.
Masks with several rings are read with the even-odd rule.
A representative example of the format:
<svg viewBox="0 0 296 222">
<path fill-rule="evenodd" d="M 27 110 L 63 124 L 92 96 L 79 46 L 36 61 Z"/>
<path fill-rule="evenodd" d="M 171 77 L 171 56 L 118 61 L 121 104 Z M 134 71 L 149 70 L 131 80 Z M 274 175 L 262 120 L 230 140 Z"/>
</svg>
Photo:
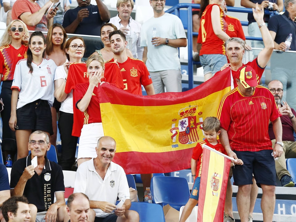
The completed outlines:
<svg viewBox="0 0 296 222">
<path fill-rule="evenodd" d="M 148 1 L 148 0 L 145 0 Z M 142 25 L 143 61 L 151 75 L 155 94 L 182 91 L 182 74 L 178 47 L 186 47 L 181 20 L 164 12 L 165 0 L 150 0 L 154 17 Z"/>
</svg>

